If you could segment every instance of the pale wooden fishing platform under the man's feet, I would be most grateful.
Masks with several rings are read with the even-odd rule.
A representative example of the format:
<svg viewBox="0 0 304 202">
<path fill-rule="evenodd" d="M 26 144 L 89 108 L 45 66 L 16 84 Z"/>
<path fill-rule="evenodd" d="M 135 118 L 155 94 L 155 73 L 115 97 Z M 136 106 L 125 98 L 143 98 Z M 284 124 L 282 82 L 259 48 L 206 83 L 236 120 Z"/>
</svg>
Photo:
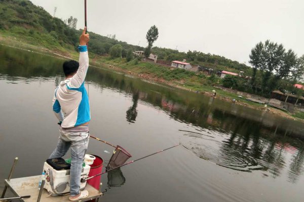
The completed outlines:
<svg viewBox="0 0 304 202">
<path fill-rule="evenodd" d="M 41 177 L 40 175 L 37 175 L 31 177 L 15 178 L 15 179 L 11 179 L 10 181 L 5 180 L 5 183 L 16 196 L 30 195 L 30 198 L 22 198 L 20 199 L 21 201 L 36 202 L 39 194 L 38 183 L 40 177 Z M 102 192 L 99 192 L 88 183 L 86 185 L 85 190 L 89 191 L 89 196 L 87 198 L 78 200 L 79 202 L 89 201 L 102 196 Z M 69 195 L 65 195 L 65 196 L 48 196 L 48 195 L 49 194 L 47 190 L 44 189 L 40 201 L 42 202 L 70 201 L 68 199 Z"/>
</svg>

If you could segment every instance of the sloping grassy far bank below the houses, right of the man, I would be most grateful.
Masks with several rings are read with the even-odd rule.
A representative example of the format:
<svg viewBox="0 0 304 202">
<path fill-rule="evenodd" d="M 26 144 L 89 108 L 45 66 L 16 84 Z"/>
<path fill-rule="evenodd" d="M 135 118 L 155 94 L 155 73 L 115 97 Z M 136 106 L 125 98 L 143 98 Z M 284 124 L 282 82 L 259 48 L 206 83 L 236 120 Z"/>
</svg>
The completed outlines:
<svg viewBox="0 0 304 202">
<path fill-rule="evenodd" d="M 151 80 L 159 83 L 165 83 L 185 90 L 202 93 L 213 96 L 213 90 L 216 90 L 216 97 L 227 102 L 232 102 L 235 98 L 240 105 L 252 106 L 263 109 L 263 105 L 249 102 L 244 98 L 238 97 L 238 94 L 227 92 L 219 89 L 216 85 L 220 85 L 222 79 L 217 76 L 206 76 L 203 73 L 186 71 L 179 68 L 169 68 L 149 62 L 142 62 L 134 59 L 127 62 L 125 59 L 110 57 L 98 57 L 95 60 L 99 64 L 106 64 L 108 68 L 116 71 L 133 74 L 134 76 Z"/>
</svg>

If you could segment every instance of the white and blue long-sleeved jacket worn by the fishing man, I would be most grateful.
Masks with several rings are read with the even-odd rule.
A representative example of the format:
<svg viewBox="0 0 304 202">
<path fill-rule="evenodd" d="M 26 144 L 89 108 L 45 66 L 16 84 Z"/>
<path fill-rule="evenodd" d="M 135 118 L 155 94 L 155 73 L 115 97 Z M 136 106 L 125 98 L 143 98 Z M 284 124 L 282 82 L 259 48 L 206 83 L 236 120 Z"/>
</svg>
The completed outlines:
<svg viewBox="0 0 304 202">
<path fill-rule="evenodd" d="M 80 45 L 79 51 L 77 73 L 61 81 L 54 93 L 53 111 L 62 122 L 62 128 L 79 126 L 91 120 L 89 97 L 84 84 L 89 67 L 87 46 Z"/>
</svg>

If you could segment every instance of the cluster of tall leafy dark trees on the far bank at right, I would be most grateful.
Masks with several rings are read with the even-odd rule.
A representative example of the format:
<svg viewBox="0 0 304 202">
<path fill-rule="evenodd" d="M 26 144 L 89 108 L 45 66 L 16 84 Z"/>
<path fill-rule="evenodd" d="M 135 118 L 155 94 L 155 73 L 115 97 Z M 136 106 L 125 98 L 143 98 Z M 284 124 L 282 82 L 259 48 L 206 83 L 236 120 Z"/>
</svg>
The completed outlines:
<svg viewBox="0 0 304 202">
<path fill-rule="evenodd" d="M 285 51 L 283 44 L 267 40 L 257 43 L 249 57 L 253 66 L 249 88 L 254 93 L 269 97 L 275 89 L 284 92 L 288 88 L 297 94 L 298 90 L 291 86 L 303 79 L 304 55 L 297 58 L 291 49 Z"/>
</svg>

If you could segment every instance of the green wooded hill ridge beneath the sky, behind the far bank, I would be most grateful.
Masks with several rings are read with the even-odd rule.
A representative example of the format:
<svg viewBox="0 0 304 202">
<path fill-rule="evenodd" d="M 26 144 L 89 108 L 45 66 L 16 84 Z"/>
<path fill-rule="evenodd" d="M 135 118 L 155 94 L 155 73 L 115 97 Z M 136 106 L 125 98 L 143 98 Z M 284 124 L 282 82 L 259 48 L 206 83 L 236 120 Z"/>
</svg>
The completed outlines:
<svg viewBox="0 0 304 202">
<path fill-rule="evenodd" d="M 67 26 L 61 19 L 52 17 L 42 7 L 33 5 L 26 0 L 0 0 L 0 33 L 22 38 L 32 44 L 42 45 L 51 49 L 75 49 L 78 45 L 81 30 Z M 131 45 L 106 36 L 90 32 L 90 53 L 96 55 L 108 54 L 109 48 L 121 44 L 123 49 L 143 51 L 144 47 Z M 217 70 L 229 70 L 236 73 L 244 71 L 251 74 L 251 68 L 237 61 L 222 56 L 204 54 L 201 52 L 178 52 L 169 48 L 153 47 L 152 52 L 158 59 L 183 60 L 193 65 Z"/>
</svg>

